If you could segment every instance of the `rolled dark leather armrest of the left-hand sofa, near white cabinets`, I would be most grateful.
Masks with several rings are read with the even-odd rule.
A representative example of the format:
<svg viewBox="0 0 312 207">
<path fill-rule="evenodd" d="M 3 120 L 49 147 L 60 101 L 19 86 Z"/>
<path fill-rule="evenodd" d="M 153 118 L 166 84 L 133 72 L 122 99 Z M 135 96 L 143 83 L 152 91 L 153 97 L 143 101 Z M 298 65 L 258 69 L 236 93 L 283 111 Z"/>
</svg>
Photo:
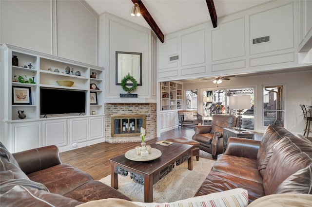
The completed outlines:
<svg viewBox="0 0 312 207">
<path fill-rule="evenodd" d="M 25 174 L 61 164 L 59 148 L 55 145 L 39 147 L 13 154 Z"/>
</svg>

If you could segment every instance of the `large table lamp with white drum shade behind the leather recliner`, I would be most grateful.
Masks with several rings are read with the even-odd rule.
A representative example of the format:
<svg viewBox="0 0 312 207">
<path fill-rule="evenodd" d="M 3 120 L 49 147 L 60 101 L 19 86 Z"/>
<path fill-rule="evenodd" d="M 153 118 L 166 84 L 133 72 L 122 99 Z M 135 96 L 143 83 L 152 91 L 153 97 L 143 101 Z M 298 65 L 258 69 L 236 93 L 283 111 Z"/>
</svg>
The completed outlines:
<svg viewBox="0 0 312 207">
<path fill-rule="evenodd" d="M 234 129 L 241 132 L 245 129 L 241 128 L 242 125 L 242 109 L 249 109 L 250 108 L 250 95 L 237 95 L 237 96 L 230 96 L 229 97 L 229 106 L 230 108 L 237 109 L 237 122 L 238 127 Z"/>
</svg>

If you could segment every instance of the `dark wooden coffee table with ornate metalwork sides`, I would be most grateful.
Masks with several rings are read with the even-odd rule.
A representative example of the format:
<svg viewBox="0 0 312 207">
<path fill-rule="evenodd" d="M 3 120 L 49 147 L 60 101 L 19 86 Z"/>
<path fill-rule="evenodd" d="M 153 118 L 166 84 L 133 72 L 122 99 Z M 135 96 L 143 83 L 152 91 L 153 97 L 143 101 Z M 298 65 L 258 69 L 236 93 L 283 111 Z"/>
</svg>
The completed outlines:
<svg viewBox="0 0 312 207">
<path fill-rule="evenodd" d="M 132 161 L 124 155 L 116 156 L 111 161 L 111 186 L 118 189 L 118 174 L 123 176 L 130 173 L 130 177 L 137 183 L 144 185 L 144 202 L 153 202 L 153 185 L 170 173 L 175 164 L 188 162 L 188 169 L 193 170 L 192 145 L 173 143 L 162 146 L 151 144 L 152 148 L 161 151 L 161 156 L 151 161 Z"/>
</svg>

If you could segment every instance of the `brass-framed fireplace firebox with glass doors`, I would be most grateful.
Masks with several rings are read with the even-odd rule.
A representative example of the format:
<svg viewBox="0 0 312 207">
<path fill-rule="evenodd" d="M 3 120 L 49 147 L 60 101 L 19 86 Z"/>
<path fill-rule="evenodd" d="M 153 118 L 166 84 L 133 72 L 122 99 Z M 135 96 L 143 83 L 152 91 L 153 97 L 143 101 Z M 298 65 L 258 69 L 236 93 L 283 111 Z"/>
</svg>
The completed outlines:
<svg viewBox="0 0 312 207">
<path fill-rule="evenodd" d="M 141 127 L 145 127 L 145 115 L 112 115 L 112 137 L 135 137 L 140 136 Z"/>
</svg>

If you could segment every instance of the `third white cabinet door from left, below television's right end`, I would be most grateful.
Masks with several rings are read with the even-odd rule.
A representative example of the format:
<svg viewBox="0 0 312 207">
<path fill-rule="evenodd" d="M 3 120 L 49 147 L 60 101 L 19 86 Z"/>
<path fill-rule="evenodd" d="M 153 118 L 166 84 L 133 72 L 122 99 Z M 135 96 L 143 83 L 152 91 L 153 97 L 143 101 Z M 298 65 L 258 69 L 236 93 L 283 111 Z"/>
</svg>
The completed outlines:
<svg viewBox="0 0 312 207">
<path fill-rule="evenodd" d="M 77 118 L 70 120 L 70 140 L 72 143 L 89 140 L 89 119 Z"/>
</svg>

